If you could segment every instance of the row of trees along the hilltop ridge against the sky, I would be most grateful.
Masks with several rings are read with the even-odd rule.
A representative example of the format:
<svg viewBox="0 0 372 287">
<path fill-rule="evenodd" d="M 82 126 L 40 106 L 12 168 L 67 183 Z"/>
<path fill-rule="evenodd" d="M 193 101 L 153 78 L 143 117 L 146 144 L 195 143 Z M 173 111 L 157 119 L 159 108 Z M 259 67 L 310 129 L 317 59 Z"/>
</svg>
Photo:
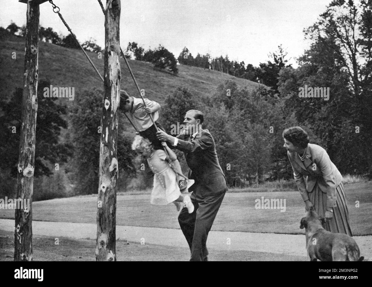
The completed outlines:
<svg viewBox="0 0 372 287">
<path fill-rule="evenodd" d="M 18 33 L 19 36 L 24 36 L 26 33 L 26 25 L 22 27 L 17 26 L 12 22 L 7 28 L 11 34 Z M 74 37 L 69 34 L 67 36 L 58 35 L 51 27 L 39 28 L 39 38 L 41 41 L 53 43 L 55 45 L 63 46 L 65 48 L 79 49 L 79 44 L 76 42 Z M 97 45 L 96 40 L 90 38 L 85 41 L 81 46 L 90 52 L 102 52 L 103 49 Z M 193 67 L 204 68 L 208 70 L 215 70 L 221 73 L 233 75 L 234 77 L 244 78 L 246 80 L 254 81 L 257 83 L 264 84 L 271 87 L 273 90 L 278 92 L 278 72 L 282 67 L 290 67 L 288 65 L 288 59 L 286 59 L 287 53 L 284 51 L 282 45 L 278 46 L 278 51 L 269 54 L 269 60 L 264 63 L 260 63 L 259 67 L 254 67 L 252 64 L 245 64 L 244 61 L 237 62 L 231 61 L 228 55 L 225 57 L 212 58 L 211 55 L 197 54 L 193 57 L 192 53 L 184 47 L 180 52 L 179 57 L 176 59 L 168 49 L 161 44 L 155 48 L 145 49 L 138 45 L 136 42 L 129 42 L 125 57 L 133 56 L 138 61 L 151 62 L 155 68 L 169 71 L 173 74 L 178 74 L 177 61 L 181 65 L 189 65 Z"/>
</svg>

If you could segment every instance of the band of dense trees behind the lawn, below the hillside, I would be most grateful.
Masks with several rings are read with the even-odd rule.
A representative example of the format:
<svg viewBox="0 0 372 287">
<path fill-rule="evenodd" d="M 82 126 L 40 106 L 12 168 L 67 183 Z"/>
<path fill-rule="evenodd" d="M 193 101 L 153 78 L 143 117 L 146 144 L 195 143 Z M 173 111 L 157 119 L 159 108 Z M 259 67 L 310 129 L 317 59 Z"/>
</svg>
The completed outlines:
<svg viewBox="0 0 372 287">
<path fill-rule="evenodd" d="M 286 65 L 280 53 L 274 53 L 269 60 L 277 80 L 276 89 L 259 85 L 248 90 L 230 80 L 220 84 L 211 97 L 204 98 L 179 87 L 162 105 L 164 128 L 170 132 L 171 124 L 182 123 L 189 109 L 205 112 L 203 128 L 214 136 L 219 161 L 230 186 L 292 178 L 281 133 L 293 125 L 307 130 L 310 142 L 325 148 L 342 174 L 372 178 L 371 19 L 371 0 L 358 4 L 332 1 L 320 19 L 304 30 L 311 45 L 299 57 L 298 68 Z M 127 51 L 136 51 L 135 48 L 131 43 Z M 145 51 L 138 53 L 141 57 L 146 54 Z M 41 81 L 39 89 L 48 85 Z M 299 97 L 299 89 L 305 85 L 329 87 L 329 100 Z M 21 89 L 11 99 L 0 102 L 0 132 L 4 135 L 0 138 L 3 192 L 4 188 L 10 189 L 6 183 L 17 172 L 18 142 L 11 132 L 13 126 L 20 127 L 20 96 Z M 50 99 L 38 98 L 41 100 L 36 127 L 35 177 L 53 172 L 48 162 L 65 162 L 65 172 L 70 174 L 75 193 L 96 193 L 102 91 L 82 92 L 70 111 L 54 106 Z M 62 115 L 71 119 L 71 128 L 63 142 L 60 130 L 67 123 Z M 124 116 L 119 118 L 120 126 L 125 126 Z M 151 178 L 148 167 L 140 168 L 141 163 L 146 163 L 131 151 L 132 137 L 130 130 L 119 132 L 119 180 L 136 176 Z M 182 153 L 178 155 L 185 167 Z M 151 180 L 147 183 L 151 185 Z"/>
</svg>

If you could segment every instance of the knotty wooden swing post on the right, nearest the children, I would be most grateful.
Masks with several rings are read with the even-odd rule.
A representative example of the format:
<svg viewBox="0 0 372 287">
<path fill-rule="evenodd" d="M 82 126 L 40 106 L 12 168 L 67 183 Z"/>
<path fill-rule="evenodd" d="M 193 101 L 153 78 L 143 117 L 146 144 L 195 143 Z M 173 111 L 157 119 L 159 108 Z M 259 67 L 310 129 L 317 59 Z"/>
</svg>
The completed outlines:
<svg viewBox="0 0 372 287">
<path fill-rule="evenodd" d="M 120 0 L 107 0 L 102 136 L 99 155 L 96 261 L 116 261 L 116 181 L 118 179 L 118 115 L 120 103 Z"/>
</svg>

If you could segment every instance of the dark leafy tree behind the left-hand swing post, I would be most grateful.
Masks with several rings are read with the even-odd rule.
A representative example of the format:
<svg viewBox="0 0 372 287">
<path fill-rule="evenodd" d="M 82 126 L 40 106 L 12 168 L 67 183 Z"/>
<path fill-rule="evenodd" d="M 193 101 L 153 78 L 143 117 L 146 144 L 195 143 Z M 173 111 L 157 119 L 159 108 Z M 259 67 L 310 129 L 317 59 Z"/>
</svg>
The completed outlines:
<svg viewBox="0 0 372 287">
<path fill-rule="evenodd" d="M 73 147 L 60 142 L 61 129 L 67 128 L 63 115 L 67 109 L 61 98 L 45 98 L 44 87 L 50 86 L 47 80 L 38 84 L 38 113 L 36 115 L 35 171 L 34 176 L 51 175 L 46 162 L 62 164 L 72 155 Z M 19 157 L 19 136 L 22 125 L 23 89 L 17 88 L 9 99 L 0 99 L 0 168 L 10 170 L 17 177 Z M 66 98 L 63 98 L 65 100 Z"/>
</svg>

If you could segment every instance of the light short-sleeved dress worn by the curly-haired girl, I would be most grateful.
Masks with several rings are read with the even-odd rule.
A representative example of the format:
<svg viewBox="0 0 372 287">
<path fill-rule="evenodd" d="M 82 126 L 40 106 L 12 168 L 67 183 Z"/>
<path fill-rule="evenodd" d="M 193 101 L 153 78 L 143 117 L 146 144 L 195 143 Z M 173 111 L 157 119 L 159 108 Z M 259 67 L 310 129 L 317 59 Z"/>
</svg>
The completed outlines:
<svg viewBox="0 0 372 287">
<path fill-rule="evenodd" d="M 154 186 L 151 192 L 151 204 L 166 205 L 181 195 L 177 184 L 176 174 L 166 161 L 166 153 L 157 149 L 147 159 L 151 171 L 154 173 Z"/>
</svg>

